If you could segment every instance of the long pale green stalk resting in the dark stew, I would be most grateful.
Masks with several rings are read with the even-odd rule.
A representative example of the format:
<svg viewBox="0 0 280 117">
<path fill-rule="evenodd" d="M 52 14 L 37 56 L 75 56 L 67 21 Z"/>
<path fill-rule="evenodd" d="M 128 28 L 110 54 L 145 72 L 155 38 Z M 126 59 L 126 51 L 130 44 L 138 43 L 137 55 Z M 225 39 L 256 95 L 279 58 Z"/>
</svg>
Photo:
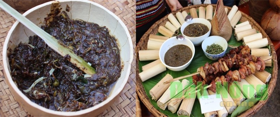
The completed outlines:
<svg viewBox="0 0 280 117">
<path fill-rule="evenodd" d="M 65 46 L 63 43 L 55 39 L 55 37 L 51 36 L 47 32 L 45 32 L 43 29 L 35 25 L 33 22 L 25 18 L 23 15 L 18 13 L 15 9 L 10 7 L 8 4 L 0 0 L 0 8 L 2 8 L 4 11 L 9 13 L 13 18 L 17 19 L 20 23 L 22 23 L 25 27 L 30 29 L 32 32 L 34 32 L 37 36 L 42 38 L 45 43 L 55 50 L 57 53 L 62 55 L 63 57 L 66 55 L 70 55 L 71 59 L 68 59 L 72 64 L 74 64 L 76 67 L 78 67 L 80 70 L 84 71 L 86 74 L 95 74 L 95 69 L 92 68 L 90 65 L 88 65 L 88 62 L 85 62 L 83 58 L 77 56 L 72 50 L 70 50 L 67 46 Z"/>
</svg>

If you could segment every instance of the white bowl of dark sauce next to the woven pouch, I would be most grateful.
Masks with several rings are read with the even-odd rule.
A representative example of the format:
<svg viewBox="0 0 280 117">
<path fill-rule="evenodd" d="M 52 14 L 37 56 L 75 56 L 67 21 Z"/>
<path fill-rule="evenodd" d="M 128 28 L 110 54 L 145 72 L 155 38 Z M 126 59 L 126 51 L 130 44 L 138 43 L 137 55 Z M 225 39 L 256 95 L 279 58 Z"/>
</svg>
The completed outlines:
<svg viewBox="0 0 280 117">
<path fill-rule="evenodd" d="M 189 36 L 184 35 L 183 34 L 184 29 L 192 23 L 202 23 L 209 28 L 209 31 L 206 34 L 204 34 L 202 36 L 198 36 L 198 37 L 189 37 Z M 185 22 L 181 26 L 182 35 L 185 36 L 186 38 L 190 39 L 190 41 L 192 41 L 193 45 L 195 45 L 195 46 L 201 45 L 202 41 L 210 35 L 210 32 L 211 32 L 211 23 L 208 20 L 203 19 L 203 18 L 193 18 L 190 22 Z"/>
</svg>

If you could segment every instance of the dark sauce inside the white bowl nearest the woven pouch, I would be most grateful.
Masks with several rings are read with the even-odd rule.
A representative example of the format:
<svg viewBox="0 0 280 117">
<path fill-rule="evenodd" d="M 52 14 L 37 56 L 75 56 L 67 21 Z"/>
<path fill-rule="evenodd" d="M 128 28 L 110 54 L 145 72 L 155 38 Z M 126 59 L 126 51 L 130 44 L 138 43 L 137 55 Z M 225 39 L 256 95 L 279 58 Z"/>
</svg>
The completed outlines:
<svg viewBox="0 0 280 117">
<path fill-rule="evenodd" d="M 209 28 L 202 23 L 192 23 L 185 27 L 183 34 L 189 37 L 198 37 L 206 34 Z"/>
</svg>

